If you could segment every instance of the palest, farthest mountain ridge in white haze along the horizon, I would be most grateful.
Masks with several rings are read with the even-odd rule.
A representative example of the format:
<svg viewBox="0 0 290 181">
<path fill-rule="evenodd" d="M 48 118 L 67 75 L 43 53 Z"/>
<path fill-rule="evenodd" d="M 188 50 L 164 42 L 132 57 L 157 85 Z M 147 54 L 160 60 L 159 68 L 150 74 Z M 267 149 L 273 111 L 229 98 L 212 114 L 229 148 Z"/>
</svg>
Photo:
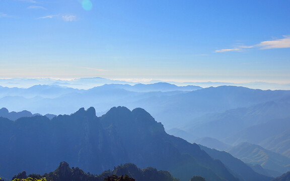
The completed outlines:
<svg viewBox="0 0 290 181">
<path fill-rule="evenodd" d="M 246 82 L 246 83 L 234 83 L 234 82 L 196 82 L 196 81 L 187 81 L 187 82 L 177 82 L 177 81 L 163 81 L 163 80 L 133 80 L 133 81 L 125 81 L 125 80 L 113 80 L 108 78 L 102 77 L 88 77 L 88 78 L 73 78 L 69 80 L 63 80 L 58 78 L 10 78 L 10 79 L 0 79 L 0 85 L 9 86 L 9 87 L 30 87 L 36 84 L 47 84 L 47 85 L 62 85 L 68 86 L 73 88 L 92 88 L 95 86 L 100 86 L 104 84 L 130 84 L 134 85 L 137 83 L 149 84 L 149 83 L 157 83 L 157 82 L 167 82 L 179 86 L 186 86 L 186 85 L 197 85 L 201 87 L 210 87 L 210 86 L 222 86 L 222 85 L 232 85 L 232 86 L 244 86 L 249 88 L 258 88 L 258 89 L 271 89 L 271 90 L 289 90 L 290 84 L 289 83 L 269 83 L 269 82 Z"/>
</svg>

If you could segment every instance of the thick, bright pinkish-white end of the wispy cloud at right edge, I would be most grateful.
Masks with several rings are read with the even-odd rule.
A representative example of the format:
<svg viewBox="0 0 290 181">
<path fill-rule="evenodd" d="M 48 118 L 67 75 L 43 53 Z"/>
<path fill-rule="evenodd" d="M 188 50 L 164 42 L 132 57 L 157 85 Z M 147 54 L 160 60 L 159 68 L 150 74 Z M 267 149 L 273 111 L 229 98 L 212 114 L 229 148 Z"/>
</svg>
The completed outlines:
<svg viewBox="0 0 290 181">
<path fill-rule="evenodd" d="M 257 46 L 261 49 L 273 49 L 273 48 L 290 48 L 290 36 L 283 36 L 282 39 L 263 41 Z"/>
</svg>

